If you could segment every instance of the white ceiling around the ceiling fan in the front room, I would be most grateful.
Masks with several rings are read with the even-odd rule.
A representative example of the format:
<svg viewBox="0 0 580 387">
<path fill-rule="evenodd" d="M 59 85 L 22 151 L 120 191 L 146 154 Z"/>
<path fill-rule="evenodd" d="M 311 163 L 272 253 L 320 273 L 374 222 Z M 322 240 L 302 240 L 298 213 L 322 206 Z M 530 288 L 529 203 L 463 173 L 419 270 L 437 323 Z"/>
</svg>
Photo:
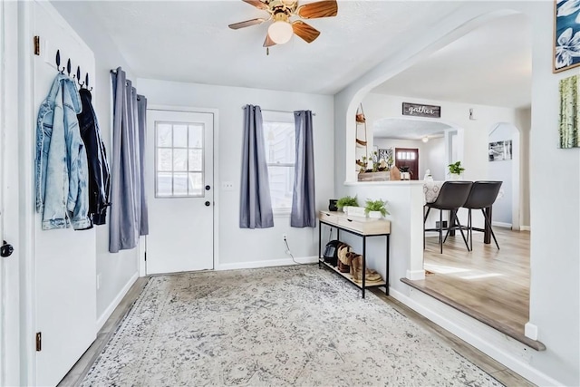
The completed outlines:
<svg viewBox="0 0 580 387">
<path fill-rule="evenodd" d="M 294 36 L 266 56 L 269 22 L 227 27 L 267 15 L 241 0 L 53 4 L 73 26 L 92 22 L 94 34 L 109 34 L 139 77 L 323 94 L 339 92 L 382 62 L 404 44 L 401 37 L 411 38 L 414 25 L 429 27 L 459 6 L 340 1 L 337 16 L 307 21 L 321 32 L 312 44 Z"/>
</svg>

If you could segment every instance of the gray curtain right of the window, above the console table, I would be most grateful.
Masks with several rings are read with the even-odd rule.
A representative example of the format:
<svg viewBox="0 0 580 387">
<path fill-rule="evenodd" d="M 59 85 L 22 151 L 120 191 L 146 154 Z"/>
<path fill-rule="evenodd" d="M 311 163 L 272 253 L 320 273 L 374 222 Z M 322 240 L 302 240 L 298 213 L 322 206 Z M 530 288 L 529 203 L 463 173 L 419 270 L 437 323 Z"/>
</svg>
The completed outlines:
<svg viewBox="0 0 580 387">
<path fill-rule="evenodd" d="M 312 111 L 295 111 L 294 120 L 296 161 L 290 226 L 316 227 Z"/>
</svg>

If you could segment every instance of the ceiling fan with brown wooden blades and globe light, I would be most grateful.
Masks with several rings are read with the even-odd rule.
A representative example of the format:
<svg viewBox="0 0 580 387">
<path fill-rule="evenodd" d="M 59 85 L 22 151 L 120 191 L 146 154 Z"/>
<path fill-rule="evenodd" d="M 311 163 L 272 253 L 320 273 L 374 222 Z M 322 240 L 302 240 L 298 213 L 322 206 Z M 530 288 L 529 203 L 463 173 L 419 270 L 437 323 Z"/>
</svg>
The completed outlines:
<svg viewBox="0 0 580 387">
<path fill-rule="evenodd" d="M 292 21 L 292 17 L 301 19 L 315 19 L 320 17 L 331 17 L 338 14 L 336 0 L 323 0 L 306 5 L 298 5 L 298 0 L 243 0 L 249 5 L 266 11 L 267 18 L 258 17 L 229 24 L 229 28 L 237 30 L 249 27 L 250 25 L 262 24 L 269 20 L 274 20 L 270 24 L 264 41 L 264 47 L 275 44 L 287 43 L 293 34 L 300 36 L 306 43 L 312 43 L 320 35 L 312 25 L 304 23 L 302 20 Z"/>
</svg>

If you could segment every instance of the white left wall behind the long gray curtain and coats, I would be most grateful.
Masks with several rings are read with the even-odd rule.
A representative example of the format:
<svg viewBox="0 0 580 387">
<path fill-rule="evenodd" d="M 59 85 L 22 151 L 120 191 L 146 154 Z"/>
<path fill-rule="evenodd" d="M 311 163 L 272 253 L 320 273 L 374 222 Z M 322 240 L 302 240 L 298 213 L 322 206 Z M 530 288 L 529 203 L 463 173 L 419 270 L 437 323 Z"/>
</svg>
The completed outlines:
<svg viewBox="0 0 580 387">
<path fill-rule="evenodd" d="M 95 90 L 92 102 L 97 113 L 102 138 L 111 160 L 112 139 L 112 91 L 111 69 L 121 66 L 127 72 L 127 78 L 134 81 L 131 69 L 117 50 L 115 44 L 106 34 L 96 34 L 100 26 L 91 17 L 78 19 L 73 17 L 75 8 L 82 8 L 82 2 L 53 2 L 68 23 L 71 24 L 91 47 L 95 56 L 95 73 L 91 74 L 90 82 L 94 82 Z M 69 16 L 69 17 L 67 17 Z M 137 90 L 140 92 L 140 90 Z M 109 218 L 107 218 L 107 222 Z M 109 224 L 96 226 L 97 276 L 101 275 L 101 287 L 97 290 L 97 324 L 103 324 L 114 307 L 121 301 L 122 295 L 128 290 L 138 274 L 139 249 L 121 250 L 117 254 L 109 253 Z"/>
</svg>

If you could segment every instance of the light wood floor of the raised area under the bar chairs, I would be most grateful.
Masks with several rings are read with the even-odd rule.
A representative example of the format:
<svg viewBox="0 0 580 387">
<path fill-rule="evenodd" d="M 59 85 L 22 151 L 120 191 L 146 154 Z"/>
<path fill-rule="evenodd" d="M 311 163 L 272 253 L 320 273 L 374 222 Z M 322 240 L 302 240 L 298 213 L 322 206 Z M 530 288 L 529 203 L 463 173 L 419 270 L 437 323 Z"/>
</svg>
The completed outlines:
<svg viewBox="0 0 580 387">
<path fill-rule="evenodd" d="M 427 276 L 412 282 L 523 335 L 529 321 L 529 232 L 501 227 L 494 232 L 499 250 L 493 239 L 484 244 L 481 232 L 474 231 L 470 252 L 459 233 L 448 238 L 443 254 L 438 237 L 427 237 Z"/>
</svg>

